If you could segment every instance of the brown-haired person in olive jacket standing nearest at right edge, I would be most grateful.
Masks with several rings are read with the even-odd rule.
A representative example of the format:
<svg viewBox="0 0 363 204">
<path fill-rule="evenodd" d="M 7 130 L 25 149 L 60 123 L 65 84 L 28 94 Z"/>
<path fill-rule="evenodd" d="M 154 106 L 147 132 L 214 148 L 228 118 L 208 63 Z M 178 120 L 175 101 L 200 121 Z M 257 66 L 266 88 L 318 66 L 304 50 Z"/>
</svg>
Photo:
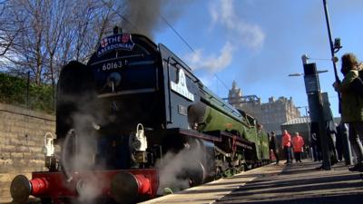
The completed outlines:
<svg viewBox="0 0 363 204">
<path fill-rule="evenodd" d="M 348 123 L 348 137 L 357 155 L 357 163 L 350 171 L 363 170 L 363 98 L 354 92 L 353 81 L 358 78 L 358 60 L 353 53 L 341 57 L 341 73 L 344 79 L 341 83 L 333 83 L 335 91 L 341 93 L 341 122 Z"/>
</svg>

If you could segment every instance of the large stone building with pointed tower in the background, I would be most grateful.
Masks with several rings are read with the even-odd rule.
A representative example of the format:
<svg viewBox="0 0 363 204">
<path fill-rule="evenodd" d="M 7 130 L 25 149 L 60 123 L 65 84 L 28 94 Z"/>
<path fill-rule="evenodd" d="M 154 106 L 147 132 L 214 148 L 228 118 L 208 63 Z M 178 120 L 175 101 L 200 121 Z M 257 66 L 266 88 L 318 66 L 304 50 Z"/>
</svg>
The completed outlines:
<svg viewBox="0 0 363 204">
<path fill-rule="evenodd" d="M 280 125 L 292 119 L 299 118 L 299 109 L 292 102 L 292 98 L 274 97 L 269 102 L 262 103 L 256 95 L 242 95 L 236 82 L 228 94 L 228 102 L 237 109 L 243 110 L 255 117 L 266 131 L 275 131 L 280 134 Z"/>
</svg>

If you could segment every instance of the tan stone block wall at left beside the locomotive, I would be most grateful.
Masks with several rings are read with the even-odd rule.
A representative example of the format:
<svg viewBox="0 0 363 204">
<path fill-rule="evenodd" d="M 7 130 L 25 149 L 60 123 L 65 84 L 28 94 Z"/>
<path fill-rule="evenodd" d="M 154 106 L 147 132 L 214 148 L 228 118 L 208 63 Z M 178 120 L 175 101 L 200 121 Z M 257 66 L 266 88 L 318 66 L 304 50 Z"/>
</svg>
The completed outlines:
<svg viewBox="0 0 363 204">
<path fill-rule="evenodd" d="M 55 131 L 55 117 L 0 103 L 0 203 L 10 201 L 10 183 L 29 179 L 44 167 L 44 135 Z"/>
</svg>

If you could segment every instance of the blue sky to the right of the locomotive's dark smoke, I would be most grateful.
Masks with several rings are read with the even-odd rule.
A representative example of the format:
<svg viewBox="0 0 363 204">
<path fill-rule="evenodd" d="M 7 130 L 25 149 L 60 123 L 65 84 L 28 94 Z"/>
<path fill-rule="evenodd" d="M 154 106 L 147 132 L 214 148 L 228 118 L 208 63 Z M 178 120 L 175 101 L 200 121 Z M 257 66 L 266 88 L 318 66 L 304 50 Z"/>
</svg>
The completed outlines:
<svg viewBox="0 0 363 204">
<path fill-rule="evenodd" d="M 327 1 L 333 38 L 341 38 L 343 45 L 337 56 L 351 52 L 363 59 L 363 1 Z M 226 97 L 223 83 L 231 88 L 235 80 L 243 95 L 256 94 L 262 102 L 270 96 L 285 96 L 292 97 L 296 106 L 306 106 L 303 77 L 288 76 L 303 73 L 301 55 L 306 53 L 319 70 L 329 70 L 320 74 L 320 87 L 329 92 L 332 112 L 339 116 L 322 0 L 178 2 L 185 5 L 171 24 L 195 52 L 166 24 L 154 33 L 154 39 L 188 63 L 213 92 Z M 340 62 L 337 67 L 342 79 Z"/>
</svg>

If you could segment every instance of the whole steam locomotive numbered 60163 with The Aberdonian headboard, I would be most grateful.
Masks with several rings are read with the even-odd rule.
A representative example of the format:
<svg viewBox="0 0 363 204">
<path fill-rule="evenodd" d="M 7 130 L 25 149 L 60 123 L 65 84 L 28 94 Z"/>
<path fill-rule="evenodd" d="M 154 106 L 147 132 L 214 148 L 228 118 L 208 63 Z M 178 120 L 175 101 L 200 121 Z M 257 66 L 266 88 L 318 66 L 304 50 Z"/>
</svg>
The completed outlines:
<svg viewBox="0 0 363 204">
<path fill-rule="evenodd" d="M 115 28 L 87 64 L 64 66 L 57 94 L 61 155 L 46 157 L 49 171 L 32 180 L 15 177 L 17 203 L 29 195 L 42 203 L 134 203 L 270 160 L 253 117 L 140 34 Z"/>
</svg>

